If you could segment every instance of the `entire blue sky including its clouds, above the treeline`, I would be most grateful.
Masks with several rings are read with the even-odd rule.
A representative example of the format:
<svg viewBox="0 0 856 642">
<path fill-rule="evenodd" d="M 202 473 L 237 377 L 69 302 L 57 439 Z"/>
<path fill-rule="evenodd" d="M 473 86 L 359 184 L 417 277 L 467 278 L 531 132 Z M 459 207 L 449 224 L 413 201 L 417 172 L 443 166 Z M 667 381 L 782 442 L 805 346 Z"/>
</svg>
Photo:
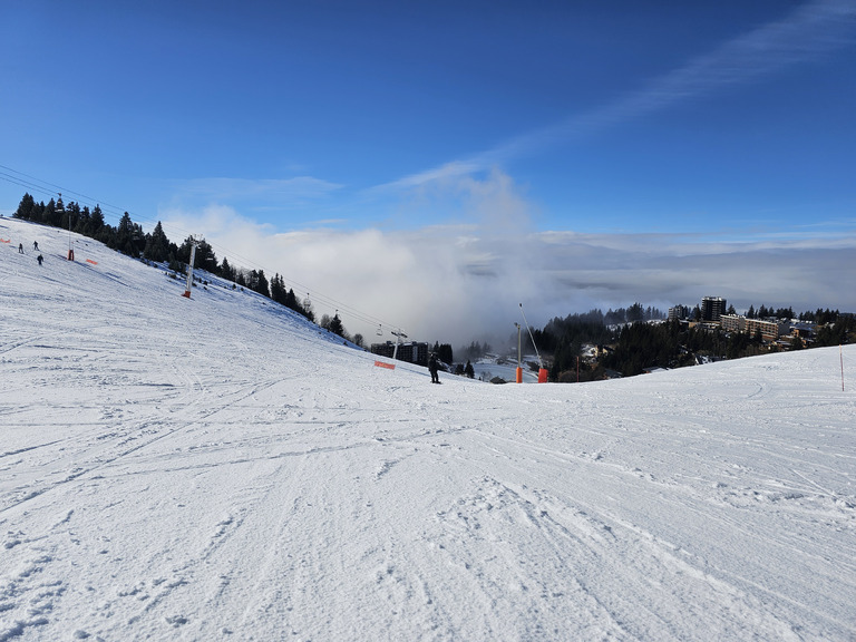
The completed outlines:
<svg viewBox="0 0 856 642">
<path fill-rule="evenodd" d="M 0 18 L 7 215 L 61 187 L 440 340 L 502 332 L 518 301 L 536 324 L 702 295 L 856 309 L 852 1 L 0 0 Z"/>
</svg>

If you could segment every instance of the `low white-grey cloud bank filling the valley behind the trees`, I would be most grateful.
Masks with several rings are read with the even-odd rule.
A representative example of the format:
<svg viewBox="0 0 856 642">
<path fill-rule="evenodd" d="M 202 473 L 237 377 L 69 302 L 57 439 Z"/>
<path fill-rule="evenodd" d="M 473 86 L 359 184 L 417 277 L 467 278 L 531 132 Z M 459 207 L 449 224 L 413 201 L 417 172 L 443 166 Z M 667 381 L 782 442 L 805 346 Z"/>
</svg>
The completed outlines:
<svg viewBox="0 0 856 642">
<path fill-rule="evenodd" d="M 430 192 L 430 193 L 429 193 Z M 377 322 L 454 347 L 509 338 L 519 303 L 529 322 L 634 302 L 665 309 L 721 295 L 738 309 L 792 305 L 856 311 L 856 232 L 750 242 L 690 234 L 535 232 L 531 206 L 505 174 L 463 176 L 424 189 L 414 207 L 454 203 L 459 222 L 408 231 L 329 228 L 278 233 L 231 207 L 162 212 L 193 230 L 218 259 L 280 273 L 319 314 L 339 309 L 346 328 L 377 339 Z"/>
</svg>

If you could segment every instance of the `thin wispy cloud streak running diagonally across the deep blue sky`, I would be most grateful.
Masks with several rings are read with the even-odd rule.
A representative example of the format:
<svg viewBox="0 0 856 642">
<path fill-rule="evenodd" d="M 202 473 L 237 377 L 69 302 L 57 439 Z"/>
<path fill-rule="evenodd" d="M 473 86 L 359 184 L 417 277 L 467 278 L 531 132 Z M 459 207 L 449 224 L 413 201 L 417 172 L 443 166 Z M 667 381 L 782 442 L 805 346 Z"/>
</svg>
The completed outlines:
<svg viewBox="0 0 856 642">
<path fill-rule="evenodd" d="M 578 136 L 591 136 L 610 127 L 665 109 L 680 101 L 701 98 L 776 74 L 789 66 L 810 61 L 856 41 L 856 3 L 852 0 L 820 0 L 792 11 L 730 40 L 716 50 L 654 79 L 619 100 L 565 120 L 528 132 L 466 158 L 411 174 L 380 186 L 407 189 L 451 179 L 515 158 L 537 154 Z"/>
</svg>

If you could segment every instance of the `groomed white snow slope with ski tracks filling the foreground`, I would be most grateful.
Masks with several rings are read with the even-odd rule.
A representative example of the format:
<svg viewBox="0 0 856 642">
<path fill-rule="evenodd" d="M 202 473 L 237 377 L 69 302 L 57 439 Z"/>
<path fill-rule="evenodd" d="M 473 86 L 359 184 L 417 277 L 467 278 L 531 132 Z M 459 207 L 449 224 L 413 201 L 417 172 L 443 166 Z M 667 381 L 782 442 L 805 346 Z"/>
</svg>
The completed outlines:
<svg viewBox="0 0 856 642">
<path fill-rule="evenodd" d="M 0 642 L 856 635 L 854 347 L 431 386 L 253 293 L 0 240 Z"/>
</svg>

